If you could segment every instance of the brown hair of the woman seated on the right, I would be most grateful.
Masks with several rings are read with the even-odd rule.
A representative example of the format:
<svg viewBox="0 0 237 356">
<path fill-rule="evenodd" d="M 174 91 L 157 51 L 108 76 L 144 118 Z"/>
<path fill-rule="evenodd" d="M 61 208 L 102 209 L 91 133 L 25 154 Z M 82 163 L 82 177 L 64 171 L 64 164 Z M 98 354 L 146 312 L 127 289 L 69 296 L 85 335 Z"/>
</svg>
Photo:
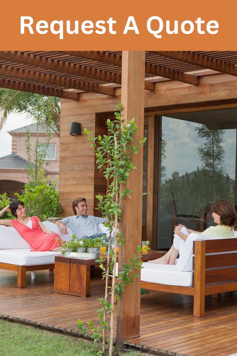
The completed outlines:
<svg viewBox="0 0 237 356">
<path fill-rule="evenodd" d="M 237 214 L 231 201 L 217 200 L 211 205 L 211 211 L 220 215 L 221 225 L 236 227 Z"/>
</svg>

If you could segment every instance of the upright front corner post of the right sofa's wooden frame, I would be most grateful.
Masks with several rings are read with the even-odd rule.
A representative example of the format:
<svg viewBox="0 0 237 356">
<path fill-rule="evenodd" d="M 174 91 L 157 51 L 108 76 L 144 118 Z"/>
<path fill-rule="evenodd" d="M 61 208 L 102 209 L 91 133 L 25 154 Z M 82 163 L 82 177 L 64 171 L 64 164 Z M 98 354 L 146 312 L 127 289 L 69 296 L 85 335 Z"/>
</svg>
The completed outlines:
<svg viewBox="0 0 237 356">
<path fill-rule="evenodd" d="M 194 302 L 193 316 L 200 318 L 205 312 L 206 241 L 195 241 L 194 248 Z"/>
</svg>

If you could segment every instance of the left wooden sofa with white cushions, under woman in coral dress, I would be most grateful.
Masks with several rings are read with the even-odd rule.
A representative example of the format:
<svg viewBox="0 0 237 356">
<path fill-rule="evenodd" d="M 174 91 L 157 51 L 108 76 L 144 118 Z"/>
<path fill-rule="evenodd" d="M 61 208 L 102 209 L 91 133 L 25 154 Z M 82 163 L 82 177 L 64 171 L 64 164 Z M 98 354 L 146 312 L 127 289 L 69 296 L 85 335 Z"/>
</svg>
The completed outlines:
<svg viewBox="0 0 237 356">
<path fill-rule="evenodd" d="M 68 235 L 61 235 L 60 228 L 44 221 L 48 229 L 57 232 L 62 239 L 69 241 L 72 231 L 68 229 Z M 54 258 L 59 252 L 45 251 L 34 252 L 26 240 L 21 237 L 14 227 L 0 225 L 0 268 L 17 271 L 17 287 L 26 287 L 26 272 L 53 269 Z M 35 272 L 31 273 L 34 278 Z"/>
</svg>

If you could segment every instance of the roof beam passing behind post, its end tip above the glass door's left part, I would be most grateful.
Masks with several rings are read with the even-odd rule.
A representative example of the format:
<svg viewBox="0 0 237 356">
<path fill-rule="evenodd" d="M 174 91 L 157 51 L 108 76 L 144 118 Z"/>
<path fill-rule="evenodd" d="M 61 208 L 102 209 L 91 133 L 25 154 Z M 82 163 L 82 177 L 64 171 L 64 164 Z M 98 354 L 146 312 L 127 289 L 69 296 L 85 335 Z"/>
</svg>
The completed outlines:
<svg viewBox="0 0 237 356">
<path fill-rule="evenodd" d="M 101 51 L 90 51 L 90 52 L 83 52 L 83 51 L 76 51 L 76 52 L 63 52 L 67 54 L 71 54 L 72 56 L 76 57 L 84 57 L 87 59 L 92 59 L 93 61 L 97 62 L 104 62 L 113 64 L 114 66 L 122 66 L 122 59 L 120 56 L 116 56 L 115 54 L 101 52 Z M 178 80 L 179 82 L 198 85 L 199 78 L 192 74 L 185 74 L 182 72 L 178 72 L 177 70 L 163 68 L 159 66 L 154 66 L 153 64 L 146 63 L 145 64 L 145 72 L 150 73 L 153 75 L 157 75 L 159 77 Z M 145 82 L 148 83 L 148 82 Z M 145 88 L 146 89 L 146 88 Z M 147 89 L 151 90 L 151 89 Z"/>
</svg>

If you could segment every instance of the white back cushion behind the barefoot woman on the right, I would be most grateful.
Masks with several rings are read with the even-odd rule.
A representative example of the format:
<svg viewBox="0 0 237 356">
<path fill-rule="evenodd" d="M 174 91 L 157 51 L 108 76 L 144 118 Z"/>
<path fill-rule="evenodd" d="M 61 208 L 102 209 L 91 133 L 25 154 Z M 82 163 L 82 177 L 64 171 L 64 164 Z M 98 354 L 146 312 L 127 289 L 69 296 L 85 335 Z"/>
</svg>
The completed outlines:
<svg viewBox="0 0 237 356">
<path fill-rule="evenodd" d="M 235 239 L 235 237 L 229 237 Z M 220 240 L 223 237 L 205 236 L 192 232 L 185 241 L 181 256 L 178 259 L 178 271 L 193 271 L 193 241 L 196 240 Z"/>
</svg>

